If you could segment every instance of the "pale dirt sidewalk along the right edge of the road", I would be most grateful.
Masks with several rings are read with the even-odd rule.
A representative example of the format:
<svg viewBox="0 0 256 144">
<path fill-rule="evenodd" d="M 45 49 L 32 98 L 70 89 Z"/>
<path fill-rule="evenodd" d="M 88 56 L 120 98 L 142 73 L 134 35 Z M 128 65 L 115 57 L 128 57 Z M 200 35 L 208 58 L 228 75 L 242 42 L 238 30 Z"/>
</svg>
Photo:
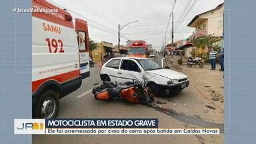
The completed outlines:
<svg viewBox="0 0 256 144">
<path fill-rule="evenodd" d="M 171 65 L 171 69 L 181 71 L 188 75 L 193 90 L 201 93 L 199 96 L 202 99 L 205 99 L 207 103 L 213 105 L 213 107 L 218 107 L 223 111 L 224 78 L 223 71 L 219 71 L 220 65 L 216 65 L 215 71 L 210 70 L 211 65 L 209 65 L 209 63 L 204 63 L 203 68 L 200 68 L 199 65 L 197 67 L 187 67 L 187 59 L 183 59 L 182 65 L 177 64 L 177 59 L 179 58 L 179 56 L 175 56 L 173 59 L 167 58 L 167 61 Z"/>
</svg>

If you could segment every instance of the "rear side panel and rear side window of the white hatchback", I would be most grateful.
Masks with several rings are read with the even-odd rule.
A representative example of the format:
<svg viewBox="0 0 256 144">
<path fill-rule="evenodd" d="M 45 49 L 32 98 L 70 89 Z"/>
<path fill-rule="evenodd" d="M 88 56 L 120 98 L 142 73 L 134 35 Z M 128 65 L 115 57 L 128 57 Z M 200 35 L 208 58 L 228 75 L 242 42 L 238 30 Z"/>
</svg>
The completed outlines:
<svg viewBox="0 0 256 144">
<path fill-rule="evenodd" d="M 109 78 L 111 81 L 119 82 L 119 79 L 117 79 L 118 73 L 119 73 L 119 65 L 120 65 L 121 59 L 112 59 L 105 65 L 105 73 L 109 75 Z"/>
</svg>

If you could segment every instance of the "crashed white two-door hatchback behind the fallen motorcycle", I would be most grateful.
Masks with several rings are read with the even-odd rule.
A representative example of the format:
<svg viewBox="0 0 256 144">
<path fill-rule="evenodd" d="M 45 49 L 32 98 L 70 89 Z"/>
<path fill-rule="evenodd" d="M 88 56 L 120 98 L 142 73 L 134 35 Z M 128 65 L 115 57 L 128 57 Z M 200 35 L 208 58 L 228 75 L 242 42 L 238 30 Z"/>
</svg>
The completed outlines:
<svg viewBox="0 0 256 144">
<path fill-rule="evenodd" d="M 163 59 L 162 59 L 163 65 Z M 187 75 L 163 68 L 149 58 L 117 57 L 107 61 L 101 68 L 102 81 L 125 83 L 145 77 L 147 86 L 154 89 L 153 94 L 169 95 L 189 86 Z"/>
</svg>

